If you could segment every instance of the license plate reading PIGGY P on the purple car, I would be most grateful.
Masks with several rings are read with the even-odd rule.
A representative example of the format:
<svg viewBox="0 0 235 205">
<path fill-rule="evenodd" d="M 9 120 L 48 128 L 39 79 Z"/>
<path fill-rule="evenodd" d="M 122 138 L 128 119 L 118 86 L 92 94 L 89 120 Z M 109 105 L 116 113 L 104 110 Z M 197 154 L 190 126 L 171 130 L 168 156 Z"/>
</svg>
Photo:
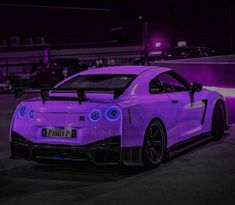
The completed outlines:
<svg viewBox="0 0 235 205">
<path fill-rule="evenodd" d="M 77 135 L 76 130 L 67 129 L 42 129 L 43 137 L 68 137 L 74 138 Z"/>
</svg>

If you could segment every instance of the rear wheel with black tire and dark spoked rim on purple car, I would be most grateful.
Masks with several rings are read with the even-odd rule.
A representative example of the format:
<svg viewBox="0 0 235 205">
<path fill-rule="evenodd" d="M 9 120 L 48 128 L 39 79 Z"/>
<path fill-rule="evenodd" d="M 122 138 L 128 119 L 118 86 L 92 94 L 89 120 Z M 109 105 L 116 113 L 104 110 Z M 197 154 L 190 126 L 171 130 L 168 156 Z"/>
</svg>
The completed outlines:
<svg viewBox="0 0 235 205">
<path fill-rule="evenodd" d="M 158 167 L 166 153 L 166 134 L 164 127 L 158 120 L 149 124 L 144 138 L 143 164 L 146 168 Z"/>
</svg>

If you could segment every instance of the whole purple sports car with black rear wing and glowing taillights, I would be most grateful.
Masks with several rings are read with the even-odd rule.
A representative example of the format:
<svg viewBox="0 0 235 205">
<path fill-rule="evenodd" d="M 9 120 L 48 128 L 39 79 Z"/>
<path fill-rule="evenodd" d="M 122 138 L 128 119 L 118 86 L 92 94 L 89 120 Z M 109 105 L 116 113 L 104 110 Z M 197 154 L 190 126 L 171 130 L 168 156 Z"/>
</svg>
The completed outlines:
<svg viewBox="0 0 235 205">
<path fill-rule="evenodd" d="M 92 69 L 18 105 L 11 157 L 153 168 L 189 142 L 220 139 L 226 126 L 222 95 L 171 69 Z"/>
</svg>

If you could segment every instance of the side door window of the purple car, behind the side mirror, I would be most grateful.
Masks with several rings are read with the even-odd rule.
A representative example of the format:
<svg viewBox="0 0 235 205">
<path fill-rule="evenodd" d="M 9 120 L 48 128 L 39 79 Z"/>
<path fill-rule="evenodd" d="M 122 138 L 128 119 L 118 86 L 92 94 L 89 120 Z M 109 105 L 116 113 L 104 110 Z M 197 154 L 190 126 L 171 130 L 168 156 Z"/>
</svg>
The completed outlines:
<svg viewBox="0 0 235 205">
<path fill-rule="evenodd" d="M 189 90 L 187 82 L 176 76 L 174 73 L 163 73 L 159 75 L 158 80 L 165 93 Z"/>
</svg>

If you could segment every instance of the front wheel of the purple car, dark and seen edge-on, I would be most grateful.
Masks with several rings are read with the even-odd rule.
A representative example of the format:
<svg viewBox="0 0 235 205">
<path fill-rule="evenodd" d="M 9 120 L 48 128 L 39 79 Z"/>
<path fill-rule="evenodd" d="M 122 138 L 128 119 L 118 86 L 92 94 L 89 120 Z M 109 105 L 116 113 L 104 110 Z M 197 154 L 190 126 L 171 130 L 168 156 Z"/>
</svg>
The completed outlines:
<svg viewBox="0 0 235 205">
<path fill-rule="evenodd" d="M 225 130 L 225 114 L 223 104 L 217 101 L 213 111 L 212 117 L 212 131 L 211 135 L 215 140 L 220 140 L 224 135 Z"/>
</svg>

